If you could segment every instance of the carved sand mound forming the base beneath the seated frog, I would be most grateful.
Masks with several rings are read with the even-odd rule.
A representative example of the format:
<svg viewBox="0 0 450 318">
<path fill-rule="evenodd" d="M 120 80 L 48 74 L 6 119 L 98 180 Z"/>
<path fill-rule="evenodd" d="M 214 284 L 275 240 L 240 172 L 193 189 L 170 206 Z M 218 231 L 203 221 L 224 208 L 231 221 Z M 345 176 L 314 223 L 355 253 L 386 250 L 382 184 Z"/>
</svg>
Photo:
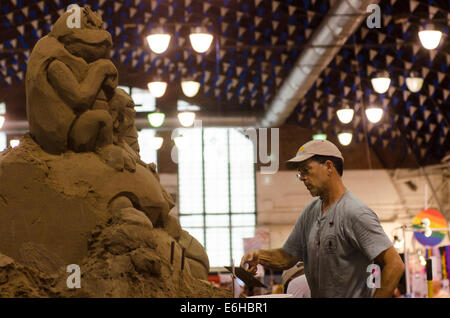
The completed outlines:
<svg viewBox="0 0 450 318">
<path fill-rule="evenodd" d="M 0 153 L 0 295 L 229 296 L 206 281 L 205 250 L 170 208 L 151 169 L 116 171 L 94 153 L 49 155 L 25 135 Z M 80 266 L 80 289 L 67 287 L 70 264 Z"/>
</svg>

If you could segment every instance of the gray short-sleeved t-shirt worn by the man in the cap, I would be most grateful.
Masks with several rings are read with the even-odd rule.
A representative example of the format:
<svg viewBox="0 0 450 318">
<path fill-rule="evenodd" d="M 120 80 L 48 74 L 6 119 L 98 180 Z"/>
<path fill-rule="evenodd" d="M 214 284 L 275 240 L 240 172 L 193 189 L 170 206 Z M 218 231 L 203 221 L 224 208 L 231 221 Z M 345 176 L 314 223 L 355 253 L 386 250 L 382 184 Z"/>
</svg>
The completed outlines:
<svg viewBox="0 0 450 318">
<path fill-rule="evenodd" d="M 347 190 L 323 215 L 320 198 L 309 203 L 283 249 L 304 262 L 312 297 L 372 297 L 368 266 L 391 246 L 377 215 Z"/>
</svg>

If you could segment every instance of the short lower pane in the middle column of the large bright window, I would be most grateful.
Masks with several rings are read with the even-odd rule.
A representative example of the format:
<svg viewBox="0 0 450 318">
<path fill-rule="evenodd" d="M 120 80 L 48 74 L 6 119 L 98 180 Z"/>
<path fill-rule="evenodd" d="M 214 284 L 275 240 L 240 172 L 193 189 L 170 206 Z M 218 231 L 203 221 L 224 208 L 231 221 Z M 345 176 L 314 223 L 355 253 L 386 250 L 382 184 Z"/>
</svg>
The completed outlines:
<svg viewBox="0 0 450 318">
<path fill-rule="evenodd" d="M 230 234 L 228 229 L 206 229 L 206 252 L 211 267 L 230 265 Z"/>
</svg>

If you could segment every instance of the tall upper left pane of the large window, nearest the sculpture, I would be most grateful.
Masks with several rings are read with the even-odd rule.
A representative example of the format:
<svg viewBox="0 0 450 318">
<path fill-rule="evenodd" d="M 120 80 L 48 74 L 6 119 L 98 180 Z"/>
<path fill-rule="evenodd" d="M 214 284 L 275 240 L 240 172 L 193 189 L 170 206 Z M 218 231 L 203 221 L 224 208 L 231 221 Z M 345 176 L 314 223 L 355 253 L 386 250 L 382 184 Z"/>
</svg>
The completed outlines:
<svg viewBox="0 0 450 318">
<path fill-rule="evenodd" d="M 178 184 L 180 213 L 203 213 L 203 169 L 201 129 L 180 129 Z"/>
</svg>

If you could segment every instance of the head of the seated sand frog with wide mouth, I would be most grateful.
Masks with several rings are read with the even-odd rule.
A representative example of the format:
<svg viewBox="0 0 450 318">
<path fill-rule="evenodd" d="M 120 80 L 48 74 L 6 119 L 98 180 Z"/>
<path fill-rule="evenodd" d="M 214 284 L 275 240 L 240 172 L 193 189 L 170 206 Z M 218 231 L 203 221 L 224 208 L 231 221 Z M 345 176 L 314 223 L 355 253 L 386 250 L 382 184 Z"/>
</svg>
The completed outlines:
<svg viewBox="0 0 450 318">
<path fill-rule="evenodd" d="M 81 27 L 70 28 L 67 19 L 72 13 L 64 13 L 54 24 L 50 35 L 64 44 L 71 54 L 87 63 L 107 58 L 112 47 L 111 35 L 103 29 L 103 21 L 89 7 L 81 10 Z"/>
</svg>

